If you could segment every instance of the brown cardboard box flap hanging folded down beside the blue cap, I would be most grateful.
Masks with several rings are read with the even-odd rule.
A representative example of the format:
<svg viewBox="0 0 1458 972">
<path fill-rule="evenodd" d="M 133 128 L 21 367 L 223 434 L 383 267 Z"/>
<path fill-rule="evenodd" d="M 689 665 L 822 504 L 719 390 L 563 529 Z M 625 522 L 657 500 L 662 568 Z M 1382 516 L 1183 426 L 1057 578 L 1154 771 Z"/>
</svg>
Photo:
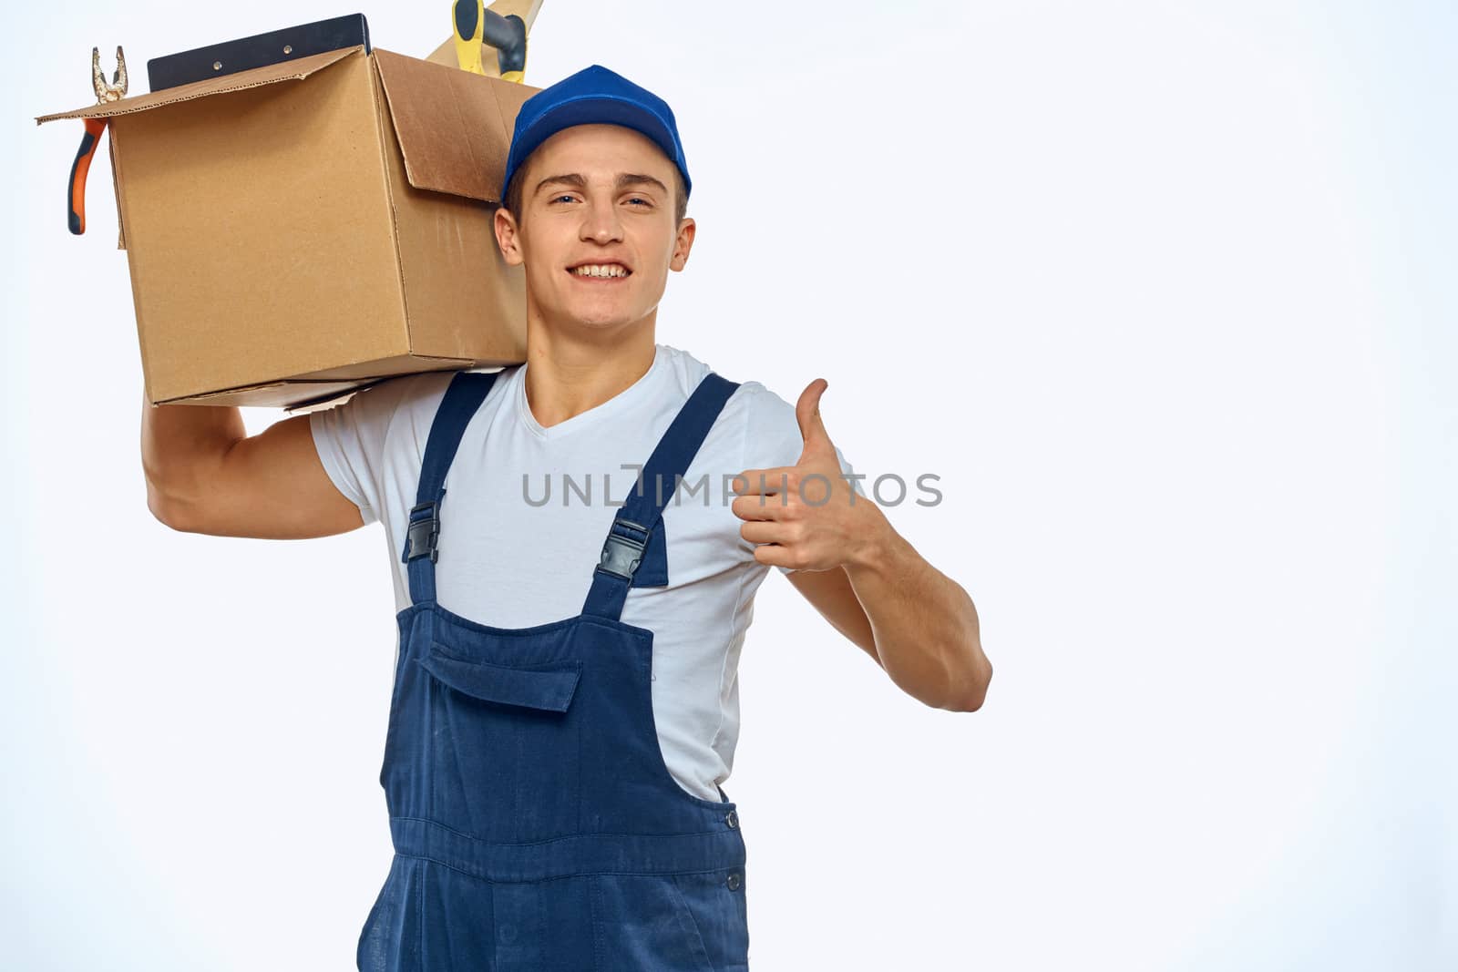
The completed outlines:
<svg viewBox="0 0 1458 972">
<path fill-rule="evenodd" d="M 373 57 L 410 185 L 500 203 L 516 112 L 541 89 L 378 47 Z"/>
</svg>

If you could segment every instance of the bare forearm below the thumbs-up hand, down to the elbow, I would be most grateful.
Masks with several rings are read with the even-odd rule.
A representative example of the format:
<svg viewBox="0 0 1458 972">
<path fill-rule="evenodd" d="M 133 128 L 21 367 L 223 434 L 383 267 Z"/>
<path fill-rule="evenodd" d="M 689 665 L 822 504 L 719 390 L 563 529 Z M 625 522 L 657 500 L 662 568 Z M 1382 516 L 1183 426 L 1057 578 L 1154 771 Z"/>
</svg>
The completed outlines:
<svg viewBox="0 0 1458 972">
<path fill-rule="evenodd" d="M 932 567 L 876 509 L 846 574 L 870 619 L 876 656 L 892 682 L 933 708 L 972 711 L 983 704 L 991 663 L 983 653 L 977 608 Z"/>
</svg>

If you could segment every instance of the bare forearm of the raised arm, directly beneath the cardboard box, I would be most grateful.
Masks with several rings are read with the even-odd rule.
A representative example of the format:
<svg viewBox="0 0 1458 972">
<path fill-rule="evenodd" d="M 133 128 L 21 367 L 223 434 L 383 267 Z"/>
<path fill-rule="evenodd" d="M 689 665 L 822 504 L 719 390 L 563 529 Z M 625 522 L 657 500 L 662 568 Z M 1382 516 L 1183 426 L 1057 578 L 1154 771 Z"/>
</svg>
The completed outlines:
<svg viewBox="0 0 1458 972">
<path fill-rule="evenodd" d="M 233 405 L 152 405 L 141 396 L 141 469 L 147 507 L 172 523 L 194 506 L 235 442 L 248 430 Z"/>
</svg>

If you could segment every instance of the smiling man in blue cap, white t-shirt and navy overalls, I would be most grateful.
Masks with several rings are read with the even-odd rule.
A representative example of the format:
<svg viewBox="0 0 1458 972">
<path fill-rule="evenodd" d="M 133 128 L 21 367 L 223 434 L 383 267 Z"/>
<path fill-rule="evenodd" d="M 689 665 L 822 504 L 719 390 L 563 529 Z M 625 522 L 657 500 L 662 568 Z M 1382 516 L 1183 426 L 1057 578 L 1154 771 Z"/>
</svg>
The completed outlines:
<svg viewBox="0 0 1458 972">
<path fill-rule="evenodd" d="M 981 705 L 975 608 L 853 491 L 825 382 L 792 408 L 656 342 L 690 189 L 669 106 L 592 66 L 522 106 L 494 214 L 525 364 L 394 379 L 254 437 L 235 408 L 144 409 L 169 526 L 385 526 L 397 853 L 360 969 L 748 968 L 720 784 L 771 565 L 904 691 Z"/>
</svg>

